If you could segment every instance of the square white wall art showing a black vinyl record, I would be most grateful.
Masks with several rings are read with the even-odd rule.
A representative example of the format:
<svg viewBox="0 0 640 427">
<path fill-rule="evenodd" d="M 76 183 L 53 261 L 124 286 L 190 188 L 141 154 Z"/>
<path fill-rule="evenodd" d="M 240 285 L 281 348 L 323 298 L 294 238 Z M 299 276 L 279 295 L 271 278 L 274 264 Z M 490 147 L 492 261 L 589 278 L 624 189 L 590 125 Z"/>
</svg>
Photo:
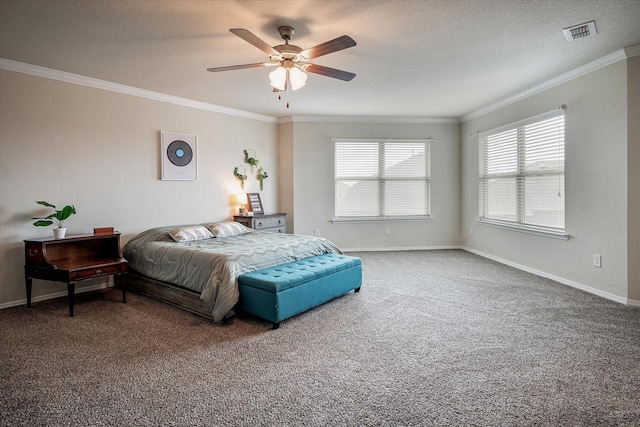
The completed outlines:
<svg viewBox="0 0 640 427">
<path fill-rule="evenodd" d="M 196 135 L 160 132 L 163 181 L 193 181 L 198 178 Z"/>
</svg>

